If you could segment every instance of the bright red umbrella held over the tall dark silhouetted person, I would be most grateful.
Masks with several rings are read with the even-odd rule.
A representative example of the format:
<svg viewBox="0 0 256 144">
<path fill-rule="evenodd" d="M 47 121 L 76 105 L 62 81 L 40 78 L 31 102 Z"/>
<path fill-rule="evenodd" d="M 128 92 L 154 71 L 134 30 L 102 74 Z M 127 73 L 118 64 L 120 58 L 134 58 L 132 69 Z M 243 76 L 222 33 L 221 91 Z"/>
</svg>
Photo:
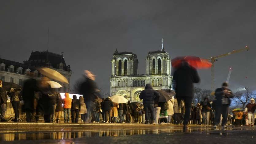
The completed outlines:
<svg viewBox="0 0 256 144">
<path fill-rule="evenodd" d="M 206 59 L 202 59 L 197 56 L 179 56 L 174 59 L 172 59 L 172 66 L 174 68 L 178 68 L 183 61 L 186 61 L 189 63 L 190 66 L 194 68 L 210 68 L 212 66 L 212 63 L 210 63 Z"/>
</svg>

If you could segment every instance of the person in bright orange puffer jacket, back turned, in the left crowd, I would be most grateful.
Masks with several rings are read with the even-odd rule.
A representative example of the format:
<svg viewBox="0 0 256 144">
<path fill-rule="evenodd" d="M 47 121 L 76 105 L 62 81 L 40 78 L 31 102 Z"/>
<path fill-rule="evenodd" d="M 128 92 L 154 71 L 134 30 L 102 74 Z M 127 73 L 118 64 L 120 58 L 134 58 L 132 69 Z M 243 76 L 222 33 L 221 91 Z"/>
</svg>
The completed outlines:
<svg viewBox="0 0 256 144">
<path fill-rule="evenodd" d="M 65 98 L 63 99 L 63 101 L 64 101 L 64 105 L 63 105 L 64 123 L 69 123 L 72 99 L 69 97 L 68 93 L 65 93 Z"/>
</svg>

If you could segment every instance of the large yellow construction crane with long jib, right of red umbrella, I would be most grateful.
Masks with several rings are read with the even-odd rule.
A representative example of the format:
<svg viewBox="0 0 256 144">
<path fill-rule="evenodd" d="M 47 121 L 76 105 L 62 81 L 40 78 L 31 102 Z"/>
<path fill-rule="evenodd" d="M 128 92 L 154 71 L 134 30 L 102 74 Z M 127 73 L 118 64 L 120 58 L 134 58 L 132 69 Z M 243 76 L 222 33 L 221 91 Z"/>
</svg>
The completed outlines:
<svg viewBox="0 0 256 144">
<path fill-rule="evenodd" d="M 215 88 L 214 88 L 214 84 L 215 84 L 215 80 L 214 80 L 214 63 L 216 62 L 216 61 L 218 61 L 218 58 L 221 58 L 221 57 L 224 57 L 224 56 L 228 56 L 228 55 L 231 55 L 231 54 L 234 54 L 234 53 L 239 53 L 239 52 L 242 52 L 242 51 L 244 51 L 244 50 L 249 50 L 249 47 L 245 47 L 245 48 L 243 48 L 243 49 L 238 49 L 238 50 L 233 50 L 232 52 L 230 52 L 230 53 L 225 53 L 225 54 L 222 54 L 222 55 L 219 55 L 219 56 L 214 56 L 214 57 L 211 57 L 211 58 L 209 58 L 209 59 L 207 59 L 207 60 L 210 60 L 211 62 L 212 62 L 212 84 L 211 84 L 211 89 L 212 89 L 212 91 L 214 91 L 215 90 Z"/>
</svg>

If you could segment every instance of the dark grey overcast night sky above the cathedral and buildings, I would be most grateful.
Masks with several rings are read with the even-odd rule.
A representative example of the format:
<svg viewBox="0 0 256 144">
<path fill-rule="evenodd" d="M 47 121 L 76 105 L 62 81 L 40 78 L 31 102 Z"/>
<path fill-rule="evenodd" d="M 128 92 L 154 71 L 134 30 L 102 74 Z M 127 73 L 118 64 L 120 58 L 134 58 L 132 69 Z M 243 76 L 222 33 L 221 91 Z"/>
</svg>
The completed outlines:
<svg viewBox="0 0 256 144">
<path fill-rule="evenodd" d="M 88 69 L 109 91 L 113 52 L 137 54 L 145 73 L 148 51 L 164 48 L 171 59 L 193 55 L 210 58 L 234 49 L 250 50 L 215 63 L 216 88 L 256 90 L 256 1 L 0 1 L 0 57 L 23 62 L 31 51 L 63 53 L 71 65 L 72 85 Z M 198 70 L 200 88 L 211 88 L 211 70 Z M 246 78 L 247 77 L 247 78 Z"/>
</svg>

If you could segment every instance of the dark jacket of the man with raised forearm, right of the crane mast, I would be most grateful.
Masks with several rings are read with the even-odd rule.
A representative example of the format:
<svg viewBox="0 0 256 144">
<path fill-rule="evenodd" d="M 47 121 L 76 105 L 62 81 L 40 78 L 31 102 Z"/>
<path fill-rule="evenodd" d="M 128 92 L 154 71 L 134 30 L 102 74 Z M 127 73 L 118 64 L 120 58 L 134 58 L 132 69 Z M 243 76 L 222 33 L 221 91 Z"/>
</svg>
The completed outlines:
<svg viewBox="0 0 256 144">
<path fill-rule="evenodd" d="M 227 91 L 231 91 L 230 89 L 227 89 Z M 215 106 L 222 106 L 222 100 L 223 98 L 227 98 L 228 101 L 229 101 L 229 104 L 231 104 L 231 100 L 230 98 L 233 98 L 234 95 L 233 93 L 231 92 L 231 94 L 224 94 L 224 88 L 217 88 L 216 91 L 215 91 Z"/>
</svg>

